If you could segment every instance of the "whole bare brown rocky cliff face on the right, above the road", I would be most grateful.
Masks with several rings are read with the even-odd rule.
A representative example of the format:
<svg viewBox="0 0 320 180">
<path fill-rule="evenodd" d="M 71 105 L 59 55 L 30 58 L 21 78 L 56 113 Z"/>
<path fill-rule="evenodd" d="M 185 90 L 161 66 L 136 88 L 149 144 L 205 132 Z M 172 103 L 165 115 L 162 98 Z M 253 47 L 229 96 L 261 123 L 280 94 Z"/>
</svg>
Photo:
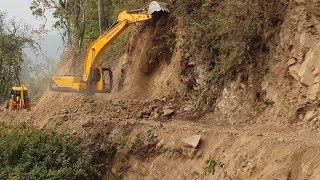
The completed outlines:
<svg viewBox="0 0 320 180">
<path fill-rule="evenodd" d="M 211 121 L 225 125 L 305 123 L 312 129 L 318 127 L 320 16 L 314 13 L 318 10 L 310 10 L 318 7 L 317 3 L 289 3 L 282 24 L 271 33 L 274 37 L 267 44 L 269 54 L 263 65 L 266 70 L 259 67 L 261 78 L 257 78 L 258 73 L 239 75 L 224 86 L 215 104 L 216 117 Z"/>
</svg>

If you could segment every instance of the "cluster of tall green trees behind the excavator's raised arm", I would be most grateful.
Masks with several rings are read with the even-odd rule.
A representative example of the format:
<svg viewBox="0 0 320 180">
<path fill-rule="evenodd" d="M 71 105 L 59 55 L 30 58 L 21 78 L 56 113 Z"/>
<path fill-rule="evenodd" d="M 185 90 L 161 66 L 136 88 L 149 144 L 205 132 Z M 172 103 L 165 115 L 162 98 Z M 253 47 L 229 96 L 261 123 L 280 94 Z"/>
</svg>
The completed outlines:
<svg viewBox="0 0 320 180">
<path fill-rule="evenodd" d="M 143 5 L 143 0 L 33 0 L 30 9 L 36 17 L 53 11 L 57 19 L 54 27 L 61 30 L 65 44 L 87 48 L 99 37 L 100 29 L 104 31 L 110 22 L 116 21 L 119 12 Z"/>
</svg>

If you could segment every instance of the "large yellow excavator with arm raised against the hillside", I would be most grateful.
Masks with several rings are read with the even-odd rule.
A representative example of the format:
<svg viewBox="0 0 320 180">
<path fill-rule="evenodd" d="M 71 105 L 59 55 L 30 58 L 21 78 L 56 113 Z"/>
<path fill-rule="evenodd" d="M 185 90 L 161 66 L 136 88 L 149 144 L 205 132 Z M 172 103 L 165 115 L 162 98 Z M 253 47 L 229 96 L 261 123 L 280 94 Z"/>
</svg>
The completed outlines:
<svg viewBox="0 0 320 180">
<path fill-rule="evenodd" d="M 49 89 L 62 92 L 111 92 L 112 71 L 98 65 L 103 51 L 131 24 L 150 20 L 161 13 L 169 13 L 169 10 L 166 3 L 157 1 L 152 1 L 147 9 L 121 12 L 118 20 L 89 47 L 83 76 L 54 76 Z"/>
</svg>

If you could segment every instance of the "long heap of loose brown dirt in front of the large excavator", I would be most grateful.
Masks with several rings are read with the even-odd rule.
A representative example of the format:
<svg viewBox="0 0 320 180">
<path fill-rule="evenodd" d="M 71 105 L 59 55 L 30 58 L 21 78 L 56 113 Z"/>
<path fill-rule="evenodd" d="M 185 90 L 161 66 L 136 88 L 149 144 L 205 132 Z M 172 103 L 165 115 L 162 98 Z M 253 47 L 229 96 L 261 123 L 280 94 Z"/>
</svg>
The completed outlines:
<svg viewBox="0 0 320 180">
<path fill-rule="evenodd" d="M 56 128 L 70 122 L 86 124 L 87 121 L 126 119 L 167 120 L 183 113 L 178 97 L 164 97 L 151 100 L 132 100 L 120 94 L 115 97 L 96 94 L 50 94 L 50 103 L 42 99 L 33 111 L 31 119 L 41 128 Z M 47 95 L 48 95 L 47 94 Z M 61 103 L 63 101 L 63 103 Z"/>
</svg>

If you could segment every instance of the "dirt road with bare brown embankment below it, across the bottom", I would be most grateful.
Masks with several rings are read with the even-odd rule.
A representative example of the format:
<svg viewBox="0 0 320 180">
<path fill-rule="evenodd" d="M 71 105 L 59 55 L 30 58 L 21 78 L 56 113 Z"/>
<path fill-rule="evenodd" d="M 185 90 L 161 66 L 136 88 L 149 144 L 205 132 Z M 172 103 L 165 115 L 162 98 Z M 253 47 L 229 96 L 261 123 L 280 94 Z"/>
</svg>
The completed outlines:
<svg viewBox="0 0 320 180">
<path fill-rule="evenodd" d="M 73 95 L 59 95 L 74 97 Z M 93 99 L 91 99 L 93 98 Z M 320 136 L 319 132 L 299 130 L 294 127 L 276 127 L 272 125 L 224 126 L 210 121 L 211 116 L 186 120 L 179 114 L 172 118 L 158 120 L 124 117 L 128 102 L 103 106 L 108 111 L 93 111 L 95 103 L 101 97 L 91 97 L 81 116 L 68 115 L 75 110 L 81 112 L 84 107 L 68 110 L 64 116 L 61 110 L 51 109 L 41 117 L 32 113 L 13 114 L 2 112 L 2 122 L 16 123 L 23 119 L 33 122 L 38 128 L 64 130 L 81 139 L 86 147 L 101 153 L 101 147 L 116 143 L 116 155 L 112 161 L 105 162 L 109 173 L 105 179 L 317 179 L 320 177 Z M 87 97 L 79 97 L 87 100 Z M 117 101 L 122 101 L 118 99 Z M 108 102 L 108 101 L 105 101 Z M 145 101 L 132 101 L 143 107 Z M 141 102 L 142 106 L 141 106 Z M 153 103 L 148 105 L 154 105 Z M 132 104 L 130 104 L 132 106 Z M 135 106 L 132 106 L 135 107 Z M 132 108 L 131 108 L 132 109 Z M 101 109 L 100 109 L 101 110 Z M 134 111 L 134 108 L 133 108 Z M 77 112 L 76 112 L 77 113 Z M 113 118 L 112 114 L 120 114 Z M 138 111 L 136 113 L 139 113 Z M 129 113 L 130 114 L 130 113 Z M 111 115 L 111 116 L 110 116 Z M 26 118 L 27 117 L 27 118 Z M 69 118 L 72 117 L 72 118 Z M 197 148 L 185 146 L 183 138 L 201 135 Z M 98 154 L 99 154 L 98 153 Z M 217 165 L 214 174 L 204 176 L 206 161 L 212 157 Z M 101 156 L 101 160 L 105 160 Z"/>
</svg>

